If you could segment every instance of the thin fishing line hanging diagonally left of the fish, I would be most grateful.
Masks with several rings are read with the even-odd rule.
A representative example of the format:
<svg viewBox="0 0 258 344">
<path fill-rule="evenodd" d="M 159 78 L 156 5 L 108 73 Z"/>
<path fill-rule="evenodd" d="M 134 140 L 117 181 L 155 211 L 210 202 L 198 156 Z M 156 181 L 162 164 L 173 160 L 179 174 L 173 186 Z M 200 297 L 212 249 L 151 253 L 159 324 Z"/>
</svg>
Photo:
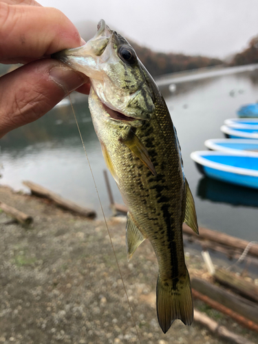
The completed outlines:
<svg viewBox="0 0 258 344">
<path fill-rule="evenodd" d="M 84 151 L 85 151 L 85 155 L 86 155 L 86 158 L 87 158 L 87 162 L 88 162 L 88 164 L 89 164 L 89 169 L 90 169 L 90 171 L 91 171 L 91 173 L 92 173 L 92 179 L 93 179 L 93 182 L 94 182 L 94 186 L 95 186 L 95 189 L 96 189 L 96 193 L 97 193 L 97 195 L 98 195 L 98 202 L 100 203 L 100 208 L 101 208 L 101 212 L 102 212 L 103 217 L 104 217 L 105 226 L 106 226 L 106 228 L 107 228 L 107 233 L 109 234 L 109 240 L 110 240 L 110 243 L 111 243 L 113 252 L 114 252 L 114 256 L 115 256 L 115 258 L 116 258 L 116 265 L 118 266 L 118 271 L 119 271 L 119 274 L 120 274 L 120 277 L 121 277 L 121 280 L 122 280 L 122 286 L 123 286 L 124 289 L 125 289 L 125 294 L 126 294 L 126 297 L 127 297 L 127 303 L 128 303 L 128 305 L 129 305 L 130 312 L 131 312 L 131 318 L 133 319 L 133 324 L 134 324 L 134 327 L 136 328 L 136 333 L 137 333 L 139 342 L 140 342 L 140 344 L 142 344 L 142 342 L 140 341 L 140 336 L 139 336 L 137 327 L 136 327 L 136 321 L 135 321 L 134 316 L 133 316 L 133 311 L 132 311 L 132 309 L 131 309 L 131 304 L 130 304 L 130 301 L 129 301 L 129 297 L 128 297 L 128 294 L 127 294 L 127 290 L 126 290 L 126 288 L 125 288 L 125 282 L 124 282 L 124 279 L 122 278 L 122 273 L 121 273 L 121 270 L 120 270 L 120 266 L 119 266 L 119 264 L 118 264 L 118 258 L 116 257 L 116 251 L 115 251 L 115 249 L 114 249 L 113 241 L 112 241 L 112 239 L 111 239 L 111 235 L 110 235 L 110 232 L 109 232 L 109 227 L 107 226 L 107 219 L 106 219 L 106 217 L 105 217 L 105 213 L 104 213 L 104 211 L 103 211 L 103 206 L 102 206 L 102 203 L 101 203 L 101 201 L 100 201 L 100 195 L 99 195 L 99 193 L 98 193 L 98 188 L 97 188 L 97 185 L 96 185 L 96 182 L 95 182 L 95 178 L 94 178 L 94 175 L 93 175 L 93 172 L 92 172 L 92 166 L 91 166 L 91 164 L 89 163 L 89 157 L 88 157 L 88 155 L 87 155 L 87 151 L 86 151 L 86 148 L 85 148 L 85 144 L 84 144 L 84 142 L 83 142 L 83 136 L 82 136 L 81 133 L 80 133 L 80 128 L 79 128 L 78 121 L 77 121 L 77 118 L 76 118 L 76 115 L 75 115 L 75 112 L 74 112 L 74 107 L 73 107 L 73 105 L 72 105 L 72 100 L 71 100 L 69 94 L 68 94 L 68 97 L 69 97 L 69 101 L 70 101 L 70 103 L 71 103 L 72 112 L 73 112 L 73 114 L 74 114 L 74 119 L 75 119 L 75 122 L 76 122 L 76 125 L 77 125 L 77 128 L 78 128 L 78 132 L 79 132 L 79 135 L 80 135 L 80 140 L 81 140 L 81 142 L 82 142 L 82 144 L 83 144 L 83 149 L 84 149 Z"/>
</svg>

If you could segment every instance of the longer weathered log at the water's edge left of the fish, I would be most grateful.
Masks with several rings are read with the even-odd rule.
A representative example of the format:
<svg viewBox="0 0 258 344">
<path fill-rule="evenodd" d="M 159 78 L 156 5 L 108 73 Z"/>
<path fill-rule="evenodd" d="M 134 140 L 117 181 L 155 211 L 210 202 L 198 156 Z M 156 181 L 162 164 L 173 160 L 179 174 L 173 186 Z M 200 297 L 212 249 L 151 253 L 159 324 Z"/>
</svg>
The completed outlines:
<svg viewBox="0 0 258 344">
<path fill-rule="evenodd" d="M 96 212 L 92 211 L 91 209 L 84 208 L 83 206 L 79 206 L 78 204 L 65 200 L 65 198 L 57 195 L 56 193 L 45 189 L 43 186 L 33 183 L 33 182 L 28 182 L 25 181 L 23 182 L 25 186 L 28 186 L 30 188 L 31 192 L 33 195 L 39 196 L 39 197 L 45 197 L 48 200 L 52 200 L 54 203 L 56 203 L 58 206 L 61 208 L 64 208 L 68 211 L 72 211 L 74 213 L 78 213 L 79 215 L 83 215 L 85 217 L 95 217 Z"/>
</svg>

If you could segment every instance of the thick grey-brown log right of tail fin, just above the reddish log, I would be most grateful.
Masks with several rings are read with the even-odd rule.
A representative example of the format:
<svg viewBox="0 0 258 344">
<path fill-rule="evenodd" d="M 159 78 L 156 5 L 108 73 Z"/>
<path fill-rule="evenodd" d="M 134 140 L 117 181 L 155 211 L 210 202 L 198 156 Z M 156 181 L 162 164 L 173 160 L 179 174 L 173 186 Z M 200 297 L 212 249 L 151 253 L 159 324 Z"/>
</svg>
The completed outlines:
<svg viewBox="0 0 258 344">
<path fill-rule="evenodd" d="M 214 286 L 208 281 L 204 281 L 204 279 L 193 278 L 191 280 L 191 285 L 197 292 L 217 301 L 226 308 L 233 310 L 233 312 L 245 316 L 254 323 L 258 323 L 257 303 L 244 299 L 244 297 L 240 297 L 232 292 L 228 292 L 224 288 Z"/>
</svg>

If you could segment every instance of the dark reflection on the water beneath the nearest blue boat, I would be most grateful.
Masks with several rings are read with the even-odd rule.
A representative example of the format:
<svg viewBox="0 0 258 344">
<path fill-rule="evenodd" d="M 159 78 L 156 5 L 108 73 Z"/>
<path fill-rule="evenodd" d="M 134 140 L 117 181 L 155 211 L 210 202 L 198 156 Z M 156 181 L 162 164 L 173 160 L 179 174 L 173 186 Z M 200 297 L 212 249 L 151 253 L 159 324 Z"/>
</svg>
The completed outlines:
<svg viewBox="0 0 258 344">
<path fill-rule="evenodd" d="M 258 190 L 245 188 L 204 177 L 199 180 L 197 196 L 202 200 L 258 207 Z"/>
</svg>

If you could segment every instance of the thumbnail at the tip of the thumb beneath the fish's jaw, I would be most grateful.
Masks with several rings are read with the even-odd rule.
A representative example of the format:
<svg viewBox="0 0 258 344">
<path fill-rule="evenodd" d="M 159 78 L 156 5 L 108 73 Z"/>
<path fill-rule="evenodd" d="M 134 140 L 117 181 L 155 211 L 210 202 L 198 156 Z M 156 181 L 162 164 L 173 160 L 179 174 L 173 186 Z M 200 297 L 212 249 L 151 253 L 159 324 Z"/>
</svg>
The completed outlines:
<svg viewBox="0 0 258 344">
<path fill-rule="evenodd" d="M 65 94 L 74 91 L 88 80 L 82 73 L 66 67 L 52 67 L 50 78 L 64 90 Z"/>
</svg>

